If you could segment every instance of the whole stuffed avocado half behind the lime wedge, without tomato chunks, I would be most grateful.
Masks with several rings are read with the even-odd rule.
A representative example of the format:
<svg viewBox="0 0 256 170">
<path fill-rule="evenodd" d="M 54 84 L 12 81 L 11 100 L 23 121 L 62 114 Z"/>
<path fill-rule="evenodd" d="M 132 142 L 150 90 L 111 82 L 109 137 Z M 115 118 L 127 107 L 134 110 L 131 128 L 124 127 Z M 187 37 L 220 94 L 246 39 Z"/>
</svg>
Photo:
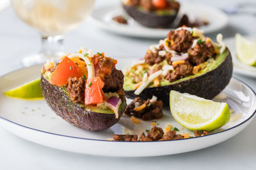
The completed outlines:
<svg viewBox="0 0 256 170">
<path fill-rule="evenodd" d="M 158 45 L 150 46 L 143 60 L 124 69 L 127 97 L 154 95 L 169 102 L 170 90 L 212 99 L 232 76 L 232 57 L 217 35 L 217 42 L 195 28 L 170 31 Z"/>
</svg>

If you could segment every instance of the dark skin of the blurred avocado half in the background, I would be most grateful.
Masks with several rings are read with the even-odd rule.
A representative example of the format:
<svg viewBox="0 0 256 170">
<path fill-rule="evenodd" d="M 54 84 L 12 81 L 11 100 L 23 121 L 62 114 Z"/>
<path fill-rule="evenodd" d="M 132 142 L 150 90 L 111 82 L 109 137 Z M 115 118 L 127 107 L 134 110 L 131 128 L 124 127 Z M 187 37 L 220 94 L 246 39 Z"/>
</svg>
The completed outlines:
<svg viewBox="0 0 256 170">
<path fill-rule="evenodd" d="M 134 20 L 145 27 L 151 28 L 170 28 L 178 13 L 177 11 L 175 15 L 161 16 L 154 12 L 142 12 L 137 8 L 125 4 L 122 4 L 122 6 L 126 13 L 128 13 Z"/>
</svg>

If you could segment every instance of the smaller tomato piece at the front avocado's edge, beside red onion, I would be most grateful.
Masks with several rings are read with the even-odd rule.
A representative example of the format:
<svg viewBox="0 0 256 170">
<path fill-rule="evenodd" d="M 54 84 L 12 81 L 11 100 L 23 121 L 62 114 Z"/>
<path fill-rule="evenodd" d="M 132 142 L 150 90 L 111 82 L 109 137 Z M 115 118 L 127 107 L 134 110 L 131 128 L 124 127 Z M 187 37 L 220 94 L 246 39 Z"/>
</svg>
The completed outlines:
<svg viewBox="0 0 256 170">
<path fill-rule="evenodd" d="M 99 76 L 89 78 L 86 82 L 85 92 L 84 92 L 84 103 L 85 104 L 97 104 L 104 101 L 104 94 L 102 88 L 104 87 L 104 82 Z"/>
</svg>

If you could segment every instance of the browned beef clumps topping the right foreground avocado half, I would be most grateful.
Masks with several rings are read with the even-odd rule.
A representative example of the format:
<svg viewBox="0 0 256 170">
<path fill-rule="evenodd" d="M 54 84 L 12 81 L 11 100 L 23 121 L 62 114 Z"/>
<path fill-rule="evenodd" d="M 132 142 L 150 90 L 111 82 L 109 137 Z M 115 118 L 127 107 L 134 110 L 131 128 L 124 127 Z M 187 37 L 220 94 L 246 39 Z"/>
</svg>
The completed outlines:
<svg viewBox="0 0 256 170">
<path fill-rule="evenodd" d="M 193 46 L 194 41 L 196 41 L 195 46 Z M 173 67 L 164 76 L 170 82 L 193 75 L 194 67 L 198 67 L 199 64 L 204 63 L 210 57 L 214 57 L 214 46 L 211 41 L 202 41 L 198 36 L 192 36 L 191 32 L 186 29 L 170 31 L 164 43 L 166 43 L 168 51 L 172 50 L 184 57 L 180 57 L 179 60 L 179 57 L 173 57 L 171 52 L 166 52 L 164 45 L 159 45 L 155 52 L 148 50 L 144 59 L 150 66 L 166 60 Z M 164 55 L 161 53 L 164 53 Z"/>
</svg>

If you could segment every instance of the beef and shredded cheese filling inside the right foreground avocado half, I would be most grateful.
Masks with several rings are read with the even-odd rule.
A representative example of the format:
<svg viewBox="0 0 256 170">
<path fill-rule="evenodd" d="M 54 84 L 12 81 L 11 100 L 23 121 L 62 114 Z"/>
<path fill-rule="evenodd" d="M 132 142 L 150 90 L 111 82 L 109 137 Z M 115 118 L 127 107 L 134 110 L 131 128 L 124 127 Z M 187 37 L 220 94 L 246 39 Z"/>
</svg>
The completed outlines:
<svg viewBox="0 0 256 170">
<path fill-rule="evenodd" d="M 125 82 L 134 84 L 134 93 L 139 95 L 148 85 L 157 87 L 201 73 L 225 50 L 221 34 L 217 37 L 214 43 L 203 31 L 189 27 L 170 31 L 158 45 L 150 46 L 144 60 L 125 68 Z"/>
</svg>

